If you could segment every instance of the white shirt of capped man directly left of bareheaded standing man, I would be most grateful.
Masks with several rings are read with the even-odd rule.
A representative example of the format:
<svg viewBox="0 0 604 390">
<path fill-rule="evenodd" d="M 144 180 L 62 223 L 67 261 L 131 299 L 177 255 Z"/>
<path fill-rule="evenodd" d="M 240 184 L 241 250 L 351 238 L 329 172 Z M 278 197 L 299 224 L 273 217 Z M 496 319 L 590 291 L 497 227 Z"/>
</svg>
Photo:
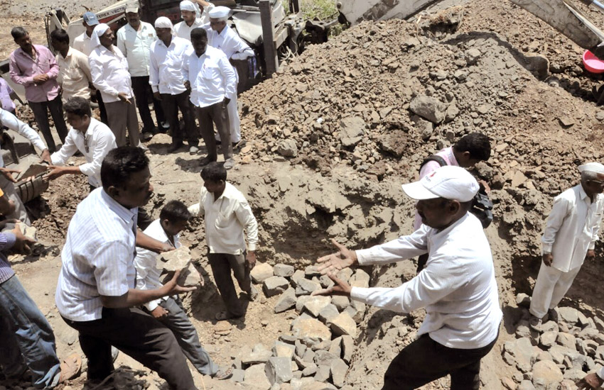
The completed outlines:
<svg viewBox="0 0 604 390">
<path fill-rule="evenodd" d="M 185 58 L 191 54 L 193 45 L 174 35 L 168 48 L 161 39 L 153 42 L 149 69 L 149 84 L 153 92 L 178 95 L 186 91 L 182 69 Z"/>
</svg>

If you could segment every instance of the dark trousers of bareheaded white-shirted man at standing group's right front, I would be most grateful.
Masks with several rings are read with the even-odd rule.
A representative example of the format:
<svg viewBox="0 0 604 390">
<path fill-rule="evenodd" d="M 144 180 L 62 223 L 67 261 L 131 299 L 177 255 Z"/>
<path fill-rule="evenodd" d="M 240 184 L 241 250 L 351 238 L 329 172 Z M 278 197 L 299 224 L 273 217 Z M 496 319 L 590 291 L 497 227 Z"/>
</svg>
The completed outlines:
<svg viewBox="0 0 604 390">
<path fill-rule="evenodd" d="M 201 136 L 207 148 L 207 157 L 217 160 L 216 138 L 214 138 L 214 124 L 222 140 L 222 153 L 225 155 L 225 161 L 233 157 L 233 146 L 231 144 L 231 133 L 229 130 L 229 114 L 227 105 L 224 101 L 212 106 L 195 107 L 197 118 L 201 129 Z"/>
</svg>

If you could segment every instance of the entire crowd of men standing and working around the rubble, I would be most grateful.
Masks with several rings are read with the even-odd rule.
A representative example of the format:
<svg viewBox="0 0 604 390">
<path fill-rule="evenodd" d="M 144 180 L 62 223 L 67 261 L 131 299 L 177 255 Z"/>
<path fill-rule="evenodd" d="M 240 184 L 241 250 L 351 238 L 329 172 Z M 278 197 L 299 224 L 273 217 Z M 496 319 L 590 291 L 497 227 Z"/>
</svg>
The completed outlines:
<svg viewBox="0 0 604 390">
<path fill-rule="evenodd" d="M 137 6 L 128 6 L 128 24 L 117 31 L 117 45 L 113 30 L 87 12 L 86 31 L 73 47 L 64 30 L 53 31 L 56 57 L 33 45 L 23 28 L 11 32 L 20 47 L 11 55 L 11 78 L 26 87 L 46 143 L 16 118 L 12 91 L 2 82 L 1 125 L 36 146 L 49 164 L 48 180 L 82 174 L 90 184 L 66 233 L 55 302 L 63 321 L 77 330 L 92 386 L 111 379 L 113 348 L 156 371 L 171 389 L 196 389 L 186 359 L 200 374 L 217 379 L 232 375 L 203 348 L 178 298 L 195 287 L 179 286 L 178 271 L 166 279 L 156 264 L 158 253 L 180 246 L 179 234 L 191 218 L 203 216 L 205 221 L 207 258 L 225 306 L 215 318 L 245 315 L 247 303 L 237 295 L 233 277 L 245 299 L 254 301 L 258 294 L 249 275 L 256 263 L 258 224 L 244 194 L 227 182 L 227 169 L 234 165 L 232 141 L 240 137 L 237 72 L 229 60 L 254 53 L 227 26 L 229 9 L 197 1 L 203 16 L 191 1 L 182 1 L 183 21 L 176 26 L 160 17 L 153 27 L 140 20 Z M 101 108 L 100 121 L 92 116 L 91 100 Z M 153 185 L 136 106 L 143 133 L 161 131 L 168 123 L 172 151 L 186 140 L 196 154 L 200 133 L 207 148 L 198 203 L 169 201 L 155 220 L 142 211 Z M 48 111 L 63 143 L 59 150 Z M 222 141 L 222 164 L 217 162 L 214 126 Z M 66 166 L 76 152 L 86 162 Z M 345 295 L 400 313 L 426 308 L 418 338 L 390 363 L 384 390 L 417 389 L 447 374 L 453 390 L 480 387 L 480 361 L 497 342 L 502 311 L 490 245 L 473 208 L 481 186 L 489 189 L 467 169 L 489 160 L 490 152 L 486 135 L 470 133 L 424 162 L 420 179 L 402 186 L 417 201 L 411 235 L 365 250 L 349 250 L 334 240 L 338 252 L 318 259 L 333 286 L 313 294 Z M 581 182 L 554 199 L 542 238 L 530 306 L 530 325 L 538 332 L 542 321 L 556 316 L 554 308 L 584 260 L 595 257 L 604 212 L 604 165 L 588 162 L 578 171 Z M 13 172 L 1 159 L 0 172 L 0 214 L 5 218 L 0 223 L 1 374 L 51 389 L 75 377 L 82 362 L 77 353 L 58 358 L 50 324 L 6 258 L 9 250 L 28 252 L 33 240 L 9 227 L 13 218 L 27 224 L 29 218 L 15 194 Z M 345 267 L 411 257 L 419 257 L 417 275 L 396 288 L 351 287 L 335 276 Z M 579 386 L 595 389 L 603 378 L 604 369 L 588 374 Z"/>
</svg>

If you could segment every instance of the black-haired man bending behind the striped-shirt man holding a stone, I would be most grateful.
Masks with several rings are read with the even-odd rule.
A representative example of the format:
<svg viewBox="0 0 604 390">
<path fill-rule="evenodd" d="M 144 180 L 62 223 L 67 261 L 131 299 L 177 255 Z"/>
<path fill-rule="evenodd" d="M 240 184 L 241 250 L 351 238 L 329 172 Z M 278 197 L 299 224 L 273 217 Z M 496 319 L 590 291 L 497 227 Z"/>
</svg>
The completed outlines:
<svg viewBox="0 0 604 390">
<path fill-rule="evenodd" d="M 191 213 L 183 202 L 169 201 L 161 209 L 159 218 L 153 221 L 144 230 L 144 233 L 162 243 L 178 248 L 180 247 L 179 233 L 186 228 L 190 218 Z M 159 289 L 163 285 L 160 280 L 161 269 L 157 268 L 156 256 L 155 252 L 136 248 L 134 267 L 136 268 L 137 289 Z M 230 370 L 220 369 L 201 346 L 197 330 L 189 321 L 178 296 L 163 296 L 160 299 L 144 303 L 143 306 L 146 311 L 151 313 L 151 316 L 172 330 L 183 353 L 200 374 L 216 379 L 231 377 Z"/>
</svg>

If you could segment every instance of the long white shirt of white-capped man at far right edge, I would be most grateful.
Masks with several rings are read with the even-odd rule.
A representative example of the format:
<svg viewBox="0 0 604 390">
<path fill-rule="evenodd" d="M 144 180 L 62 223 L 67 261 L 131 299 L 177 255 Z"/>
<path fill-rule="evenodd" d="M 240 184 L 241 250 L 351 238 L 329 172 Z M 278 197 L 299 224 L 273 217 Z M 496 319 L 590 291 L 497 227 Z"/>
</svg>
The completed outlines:
<svg viewBox="0 0 604 390">
<path fill-rule="evenodd" d="M 541 237 L 544 253 L 551 253 L 551 266 L 562 272 L 581 267 L 587 251 L 595 247 L 604 211 L 604 195 L 590 201 L 578 184 L 554 198 Z"/>
</svg>

